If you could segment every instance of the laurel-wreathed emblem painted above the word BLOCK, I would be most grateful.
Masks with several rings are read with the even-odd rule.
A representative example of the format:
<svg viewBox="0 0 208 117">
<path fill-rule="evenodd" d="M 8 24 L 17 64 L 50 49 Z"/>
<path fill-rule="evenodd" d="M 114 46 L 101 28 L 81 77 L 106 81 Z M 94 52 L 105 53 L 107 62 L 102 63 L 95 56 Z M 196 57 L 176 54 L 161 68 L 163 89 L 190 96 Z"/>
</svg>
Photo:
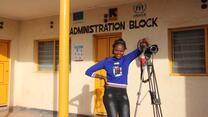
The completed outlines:
<svg viewBox="0 0 208 117">
<path fill-rule="evenodd" d="M 133 5 L 133 11 L 134 11 L 134 15 L 133 18 L 137 18 L 140 16 L 145 16 L 147 9 L 147 4 L 145 2 L 139 2 Z"/>
</svg>

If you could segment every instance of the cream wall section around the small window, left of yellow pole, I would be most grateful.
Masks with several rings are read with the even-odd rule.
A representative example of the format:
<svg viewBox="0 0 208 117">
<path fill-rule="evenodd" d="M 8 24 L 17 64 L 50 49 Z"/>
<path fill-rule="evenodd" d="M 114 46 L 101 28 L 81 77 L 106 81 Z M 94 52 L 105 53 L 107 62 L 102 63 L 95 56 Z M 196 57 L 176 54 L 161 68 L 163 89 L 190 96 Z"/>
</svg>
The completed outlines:
<svg viewBox="0 0 208 117">
<path fill-rule="evenodd" d="M 58 17 L 48 17 L 21 22 L 19 39 L 19 64 L 16 78 L 15 105 L 56 110 L 57 74 L 38 72 L 35 40 L 58 38 Z M 54 28 L 50 22 L 54 21 Z"/>
</svg>

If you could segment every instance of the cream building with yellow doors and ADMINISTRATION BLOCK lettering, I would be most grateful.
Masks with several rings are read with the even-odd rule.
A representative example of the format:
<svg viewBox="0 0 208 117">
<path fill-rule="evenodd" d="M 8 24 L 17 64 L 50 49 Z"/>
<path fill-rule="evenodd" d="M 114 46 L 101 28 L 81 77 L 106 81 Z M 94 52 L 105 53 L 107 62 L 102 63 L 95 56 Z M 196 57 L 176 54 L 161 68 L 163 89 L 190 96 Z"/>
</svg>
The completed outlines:
<svg viewBox="0 0 208 117">
<path fill-rule="evenodd" d="M 151 44 L 159 46 L 154 67 L 163 115 L 206 117 L 206 5 L 208 2 L 199 0 L 147 0 L 72 14 L 78 16 L 72 17 L 75 19 L 71 20 L 70 28 L 69 112 L 103 114 L 103 109 L 99 110 L 102 104 L 95 103 L 96 100 L 100 102 L 100 93 L 99 90 L 95 93 L 99 86 L 94 83 L 100 81 L 85 76 L 85 70 L 105 56 L 104 52 L 110 55 L 111 51 L 105 49 L 111 48 L 117 37 L 126 40 L 127 53 L 137 47 L 139 39 L 146 37 Z M 58 14 L 21 21 L 0 17 L 0 104 L 57 111 Z M 106 48 L 100 49 L 100 46 Z M 98 51 L 103 53 L 98 54 Z M 135 60 L 129 68 L 131 116 L 134 115 L 140 82 L 137 63 Z M 148 85 L 143 85 L 142 97 L 146 92 Z M 153 116 L 148 94 L 139 106 L 138 114 Z"/>
</svg>

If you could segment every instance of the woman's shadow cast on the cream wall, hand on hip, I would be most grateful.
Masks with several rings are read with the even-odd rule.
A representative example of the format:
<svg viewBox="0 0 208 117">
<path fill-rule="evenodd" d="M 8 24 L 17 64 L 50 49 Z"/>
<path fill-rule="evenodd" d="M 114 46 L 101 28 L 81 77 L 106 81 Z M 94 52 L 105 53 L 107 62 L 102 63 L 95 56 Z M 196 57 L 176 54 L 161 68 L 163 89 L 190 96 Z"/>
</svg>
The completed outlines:
<svg viewBox="0 0 208 117">
<path fill-rule="evenodd" d="M 69 101 L 69 104 L 77 107 L 78 114 L 92 114 L 91 102 L 94 92 L 89 90 L 89 85 L 84 85 L 82 93 Z"/>
</svg>

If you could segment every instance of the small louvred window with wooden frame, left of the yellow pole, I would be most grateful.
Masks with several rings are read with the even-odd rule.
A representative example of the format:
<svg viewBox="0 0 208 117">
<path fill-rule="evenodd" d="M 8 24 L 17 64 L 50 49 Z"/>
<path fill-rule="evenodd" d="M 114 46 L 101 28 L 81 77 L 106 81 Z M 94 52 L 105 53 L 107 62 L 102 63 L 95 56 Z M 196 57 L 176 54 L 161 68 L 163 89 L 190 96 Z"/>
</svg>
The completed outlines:
<svg viewBox="0 0 208 117">
<path fill-rule="evenodd" d="M 36 41 L 38 71 L 56 71 L 59 68 L 59 41 Z"/>
</svg>

